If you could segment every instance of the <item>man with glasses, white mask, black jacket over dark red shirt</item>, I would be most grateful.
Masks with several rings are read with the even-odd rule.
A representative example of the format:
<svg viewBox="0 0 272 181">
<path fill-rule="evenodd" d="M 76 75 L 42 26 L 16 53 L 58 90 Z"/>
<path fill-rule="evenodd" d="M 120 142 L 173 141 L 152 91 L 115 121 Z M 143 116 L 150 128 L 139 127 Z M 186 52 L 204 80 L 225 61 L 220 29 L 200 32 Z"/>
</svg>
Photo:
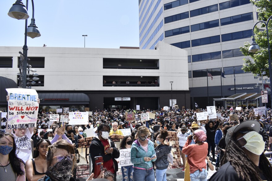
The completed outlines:
<svg viewBox="0 0 272 181">
<path fill-rule="evenodd" d="M 114 174 L 114 181 L 116 181 L 116 174 L 118 171 L 118 163 L 115 158 L 119 158 L 120 152 L 115 147 L 114 142 L 109 139 L 110 128 L 107 124 L 101 124 L 97 128 L 97 136 L 94 137 L 90 144 L 90 156 L 92 161 L 92 173 L 95 168 L 94 158 L 102 156 L 104 167 Z"/>
</svg>

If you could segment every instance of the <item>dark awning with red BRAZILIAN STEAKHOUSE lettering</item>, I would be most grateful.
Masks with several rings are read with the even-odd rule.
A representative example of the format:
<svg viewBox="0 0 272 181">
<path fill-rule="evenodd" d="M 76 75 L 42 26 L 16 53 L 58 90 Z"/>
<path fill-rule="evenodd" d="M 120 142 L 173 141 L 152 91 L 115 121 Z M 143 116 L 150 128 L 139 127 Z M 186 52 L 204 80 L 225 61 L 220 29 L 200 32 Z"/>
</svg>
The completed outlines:
<svg viewBox="0 0 272 181">
<path fill-rule="evenodd" d="M 40 105 L 86 105 L 90 98 L 83 93 L 39 93 Z"/>
</svg>

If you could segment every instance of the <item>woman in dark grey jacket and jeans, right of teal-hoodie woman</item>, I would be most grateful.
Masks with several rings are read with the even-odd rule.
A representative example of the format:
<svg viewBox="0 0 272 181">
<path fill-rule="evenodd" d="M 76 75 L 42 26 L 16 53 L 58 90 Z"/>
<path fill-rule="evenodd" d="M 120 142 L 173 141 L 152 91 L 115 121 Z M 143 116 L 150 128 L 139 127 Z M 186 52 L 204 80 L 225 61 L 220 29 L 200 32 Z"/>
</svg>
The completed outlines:
<svg viewBox="0 0 272 181">
<path fill-rule="evenodd" d="M 155 153 L 157 159 L 155 160 L 156 166 L 156 181 L 166 181 L 166 171 L 169 165 L 168 154 L 171 152 L 172 146 L 168 146 L 164 143 L 168 136 L 167 130 L 161 130 L 156 138 Z"/>
</svg>

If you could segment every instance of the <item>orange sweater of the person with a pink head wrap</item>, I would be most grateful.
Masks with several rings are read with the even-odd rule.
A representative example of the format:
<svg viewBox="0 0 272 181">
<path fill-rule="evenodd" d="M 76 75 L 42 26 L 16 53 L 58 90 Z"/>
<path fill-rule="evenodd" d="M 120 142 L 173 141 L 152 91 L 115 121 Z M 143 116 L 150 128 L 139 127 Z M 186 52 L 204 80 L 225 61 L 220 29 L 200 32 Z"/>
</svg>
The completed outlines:
<svg viewBox="0 0 272 181">
<path fill-rule="evenodd" d="M 190 166 L 190 173 L 194 173 L 197 170 L 202 171 L 202 168 L 206 168 L 205 159 L 208 154 L 208 143 L 203 142 L 202 145 L 192 144 L 189 145 L 189 139 L 187 139 L 185 145 L 182 148 L 182 153 L 187 154 L 187 160 Z"/>
</svg>

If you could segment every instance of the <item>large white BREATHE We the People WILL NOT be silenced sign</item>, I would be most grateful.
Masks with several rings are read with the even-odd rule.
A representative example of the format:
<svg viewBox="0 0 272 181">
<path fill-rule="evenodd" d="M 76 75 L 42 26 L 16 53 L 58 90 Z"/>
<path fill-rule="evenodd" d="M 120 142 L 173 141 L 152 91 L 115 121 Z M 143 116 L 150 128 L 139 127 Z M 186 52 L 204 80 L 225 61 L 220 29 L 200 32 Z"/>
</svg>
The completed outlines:
<svg viewBox="0 0 272 181">
<path fill-rule="evenodd" d="M 7 88 L 7 129 L 33 128 L 36 126 L 39 110 L 38 94 L 34 89 Z"/>
</svg>

